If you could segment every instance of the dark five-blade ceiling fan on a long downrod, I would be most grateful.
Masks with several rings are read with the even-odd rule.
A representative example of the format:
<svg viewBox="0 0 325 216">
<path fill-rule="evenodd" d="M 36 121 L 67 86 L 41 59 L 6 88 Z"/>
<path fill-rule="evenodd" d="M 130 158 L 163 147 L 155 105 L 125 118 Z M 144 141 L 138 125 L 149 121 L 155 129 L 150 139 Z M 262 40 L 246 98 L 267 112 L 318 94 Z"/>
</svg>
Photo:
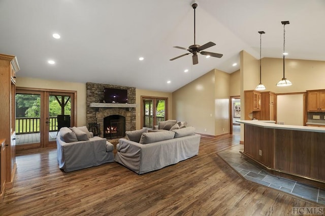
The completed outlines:
<svg viewBox="0 0 325 216">
<path fill-rule="evenodd" d="M 203 50 L 209 48 L 209 47 L 212 47 L 214 46 L 214 42 L 207 42 L 205 45 L 197 45 L 195 44 L 195 9 L 198 7 L 198 4 L 196 1 L 193 1 L 192 2 L 192 8 L 194 9 L 194 45 L 191 45 L 188 47 L 188 49 L 186 48 L 183 48 L 183 47 L 174 47 L 174 48 L 178 48 L 178 49 L 182 49 L 182 50 L 187 50 L 189 53 L 186 53 L 186 54 L 183 54 L 183 55 L 180 55 L 180 56 L 177 56 L 173 59 L 170 59 L 170 61 L 173 61 L 175 59 L 178 59 L 180 57 L 183 57 L 183 56 L 186 56 L 188 54 L 193 54 L 192 56 L 192 61 L 193 61 L 193 65 L 195 64 L 198 64 L 199 63 L 199 59 L 198 59 L 198 53 L 201 53 L 202 55 L 205 55 L 205 56 L 212 56 L 212 57 L 216 57 L 216 58 L 221 58 L 223 55 L 222 54 L 219 54 L 219 53 L 211 53 L 211 52 L 205 52 Z"/>
</svg>

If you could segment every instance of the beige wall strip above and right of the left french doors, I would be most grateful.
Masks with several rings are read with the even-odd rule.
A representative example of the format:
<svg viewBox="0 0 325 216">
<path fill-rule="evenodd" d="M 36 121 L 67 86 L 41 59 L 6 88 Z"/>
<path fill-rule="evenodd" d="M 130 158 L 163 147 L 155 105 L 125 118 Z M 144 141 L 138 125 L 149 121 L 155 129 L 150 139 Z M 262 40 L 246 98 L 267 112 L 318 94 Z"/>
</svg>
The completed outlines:
<svg viewBox="0 0 325 216">
<path fill-rule="evenodd" d="M 86 125 L 86 83 L 17 77 L 17 87 L 77 91 L 77 126 Z"/>
</svg>

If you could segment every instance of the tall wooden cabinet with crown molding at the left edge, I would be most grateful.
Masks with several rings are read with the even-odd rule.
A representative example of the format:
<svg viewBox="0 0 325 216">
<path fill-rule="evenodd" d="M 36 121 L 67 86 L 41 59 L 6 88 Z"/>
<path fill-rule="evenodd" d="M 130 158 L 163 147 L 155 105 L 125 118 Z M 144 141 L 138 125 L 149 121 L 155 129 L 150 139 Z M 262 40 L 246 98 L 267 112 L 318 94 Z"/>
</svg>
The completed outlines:
<svg viewBox="0 0 325 216">
<path fill-rule="evenodd" d="M 16 169 L 15 149 L 15 95 L 16 72 L 19 70 L 15 56 L 0 54 L 0 138 L 6 140 L 6 186 L 13 187 Z"/>
</svg>

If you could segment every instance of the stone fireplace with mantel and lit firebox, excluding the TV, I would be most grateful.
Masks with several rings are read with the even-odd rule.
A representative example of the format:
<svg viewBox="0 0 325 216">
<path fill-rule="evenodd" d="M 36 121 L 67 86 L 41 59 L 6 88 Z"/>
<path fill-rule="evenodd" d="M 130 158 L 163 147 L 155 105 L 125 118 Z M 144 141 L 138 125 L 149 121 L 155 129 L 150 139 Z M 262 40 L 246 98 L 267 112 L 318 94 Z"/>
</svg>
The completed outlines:
<svg viewBox="0 0 325 216">
<path fill-rule="evenodd" d="M 100 136 L 109 140 L 125 136 L 125 131 L 136 129 L 136 89 L 87 82 L 87 126 L 97 123 L 100 127 Z M 104 89 L 127 89 L 127 104 L 101 103 L 104 99 Z M 113 123 L 113 126 L 112 126 Z M 113 127 L 113 128 L 111 128 Z M 111 131 L 119 127 L 118 131 Z"/>
</svg>

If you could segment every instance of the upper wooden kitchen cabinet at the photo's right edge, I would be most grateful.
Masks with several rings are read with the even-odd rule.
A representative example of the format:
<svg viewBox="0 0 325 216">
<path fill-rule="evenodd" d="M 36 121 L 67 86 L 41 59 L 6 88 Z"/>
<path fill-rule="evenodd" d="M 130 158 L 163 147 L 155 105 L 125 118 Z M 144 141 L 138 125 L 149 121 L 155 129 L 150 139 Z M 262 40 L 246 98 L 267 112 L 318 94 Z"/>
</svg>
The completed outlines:
<svg viewBox="0 0 325 216">
<path fill-rule="evenodd" d="M 325 90 L 307 91 L 308 111 L 325 112 Z"/>
</svg>

